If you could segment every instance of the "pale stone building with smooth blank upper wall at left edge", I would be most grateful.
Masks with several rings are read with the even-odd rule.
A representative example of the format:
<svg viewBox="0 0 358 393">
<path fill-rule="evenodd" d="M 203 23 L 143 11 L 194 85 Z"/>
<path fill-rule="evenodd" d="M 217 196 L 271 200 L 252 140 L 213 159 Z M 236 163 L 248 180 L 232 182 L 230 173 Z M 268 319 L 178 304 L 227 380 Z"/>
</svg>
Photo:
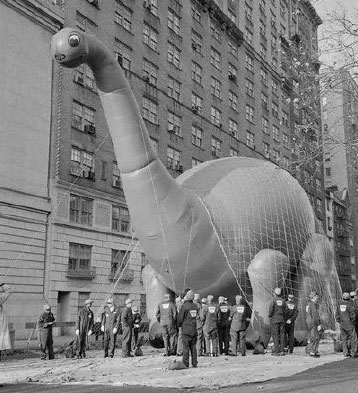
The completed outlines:
<svg viewBox="0 0 358 393">
<path fill-rule="evenodd" d="M 47 1 L 0 1 L 0 283 L 17 336 L 46 301 L 51 204 L 51 36 L 63 18 Z M 36 317 L 35 317 L 36 318 Z"/>
</svg>

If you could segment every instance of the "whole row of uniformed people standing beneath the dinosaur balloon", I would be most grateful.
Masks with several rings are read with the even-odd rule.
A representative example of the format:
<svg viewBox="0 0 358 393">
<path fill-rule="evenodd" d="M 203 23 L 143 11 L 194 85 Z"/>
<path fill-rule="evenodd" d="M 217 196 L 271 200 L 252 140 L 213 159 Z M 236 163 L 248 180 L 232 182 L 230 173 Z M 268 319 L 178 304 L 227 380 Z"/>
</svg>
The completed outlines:
<svg viewBox="0 0 358 393">
<path fill-rule="evenodd" d="M 0 292 L 1 351 L 11 348 L 6 316 L 2 309 L 2 305 L 10 295 L 10 287 L 3 285 Z M 122 334 L 122 357 L 134 356 L 132 352 L 138 348 L 141 316 L 138 308 L 132 307 L 132 299 L 127 298 L 123 308 L 116 306 L 112 298 L 107 299 L 104 310 L 96 323 L 92 304 L 93 301 L 87 299 L 78 313 L 73 356 L 85 358 L 88 337 L 95 334 L 98 339 L 100 333 L 103 334 L 105 358 L 113 358 L 119 333 Z M 293 353 L 295 321 L 298 313 L 294 295 L 288 294 L 285 299 L 281 289 L 276 288 L 268 310 L 273 356 Z M 214 302 L 212 295 L 201 297 L 190 289 L 175 299 L 170 294 L 165 294 L 163 301 L 158 304 L 156 318 L 164 342 L 164 356 L 182 356 L 186 367 L 189 367 L 190 357 L 192 366 L 197 367 L 200 356 L 215 357 L 222 354 L 237 356 L 238 353 L 246 356 L 246 331 L 251 321 L 251 307 L 240 295 L 235 297 L 235 304 L 230 305 L 224 296 L 219 296 L 218 301 Z M 315 291 L 309 295 L 304 319 L 307 328 L 306 352 L 309 356 L 319 357 L 319 342 L 324 327 L 319 295 Z M 342 300 L 337 303 L 335 319 L 340 326 L 344 357 L 358 356 L 358 296 L 356 291 L 343 293 Z M 51 306 L 45 304 L 44 311 L 38 319 L 42 359 L 54 358 L 52 334 L 54 323 L 55 316 L 51 311 Z M 97 330 L 96 325 L 99 325 Z"/>
</svg>

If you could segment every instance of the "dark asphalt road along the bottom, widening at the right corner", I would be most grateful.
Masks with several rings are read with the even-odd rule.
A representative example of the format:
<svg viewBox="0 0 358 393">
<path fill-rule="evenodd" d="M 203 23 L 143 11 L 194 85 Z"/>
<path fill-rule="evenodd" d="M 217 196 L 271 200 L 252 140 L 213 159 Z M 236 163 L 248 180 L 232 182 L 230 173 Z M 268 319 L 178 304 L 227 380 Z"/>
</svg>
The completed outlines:
<svg viewBox="0 0 358 393">
<path fill-rule="evenodd" d="M 168 389 L 144 386 L 98 386 L 98 385 L 43 385 L 27 383 L 0 385 L 0 393 L 182 393 L 210 392 L 199 389 Z M 212 391 L 211 391 L 212 392 Z M 250 383 L 221 388 L 222 393 L 358 393 L 358 358 L 325 364 L 287 378 L 267 382 Z"/>
</svg>

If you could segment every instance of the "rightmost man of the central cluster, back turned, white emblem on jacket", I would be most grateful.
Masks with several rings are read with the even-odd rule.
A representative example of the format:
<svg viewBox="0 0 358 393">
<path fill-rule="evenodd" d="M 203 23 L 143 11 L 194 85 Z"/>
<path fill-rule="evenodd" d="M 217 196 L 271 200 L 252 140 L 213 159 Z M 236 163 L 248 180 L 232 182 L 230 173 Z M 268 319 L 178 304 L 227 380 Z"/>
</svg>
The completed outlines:
<svg viewBox="0 0 358 393">
<path fill-rule="evenodd" d="M 251 310 L 242 296 L 235 296 L 236 304 L 230 308 L 230 355 L 237 356 L 237 343 L 239 341 L 241 356 L 246 356 L 246 329 L 251 320 Z"/>
</svg>

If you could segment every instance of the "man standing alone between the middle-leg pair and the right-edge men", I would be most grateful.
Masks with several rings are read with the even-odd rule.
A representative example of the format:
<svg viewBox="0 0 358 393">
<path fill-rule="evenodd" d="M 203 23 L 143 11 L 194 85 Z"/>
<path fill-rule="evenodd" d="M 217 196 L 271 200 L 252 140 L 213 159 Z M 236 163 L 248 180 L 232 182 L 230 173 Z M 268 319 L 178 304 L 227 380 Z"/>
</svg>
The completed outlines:
<svg viewBox="0 0 358 393">
<path fill-rule="evenodd" d="M 318 353 L 319 341 L 323 333 L 322 322 L 319 313 L 319 296 L 316 291 L 309 295 L 309 302 L 306 305 L 306 326 L 309 342 L 307 343 L 307 352 L 309 356 L 320 357 Z"/>
</svg>

